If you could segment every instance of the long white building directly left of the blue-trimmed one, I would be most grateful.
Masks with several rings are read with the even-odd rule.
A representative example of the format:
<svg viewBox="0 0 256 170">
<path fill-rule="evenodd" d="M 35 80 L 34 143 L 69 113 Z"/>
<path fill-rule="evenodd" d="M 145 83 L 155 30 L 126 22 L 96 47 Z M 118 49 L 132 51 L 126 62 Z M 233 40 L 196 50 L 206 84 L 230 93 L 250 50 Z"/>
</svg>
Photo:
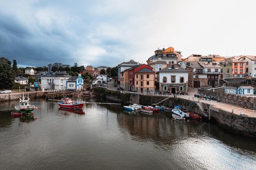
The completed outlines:
<svg viewBox="0 0 256 170">
<path fill-rule="evenodd" d="M 63 72 L 48 74 L 45 77 L 41 77 L 41 89 L 65 90 L 67 89 L 67 79 L 69 77 L 69 74 Z"/>
</svg>

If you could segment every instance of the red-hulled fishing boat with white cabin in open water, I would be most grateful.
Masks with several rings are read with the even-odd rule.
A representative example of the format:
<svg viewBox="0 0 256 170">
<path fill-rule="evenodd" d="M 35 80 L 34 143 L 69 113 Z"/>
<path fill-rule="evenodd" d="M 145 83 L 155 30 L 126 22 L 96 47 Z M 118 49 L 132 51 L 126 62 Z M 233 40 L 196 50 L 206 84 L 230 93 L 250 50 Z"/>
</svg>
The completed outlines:
<svg viewBox="0 0 256 170">
<path fill-rule="evenodd" d="M 83 106 L 85 105 L 85 102 L 72 102 L 72 100 L 69 97 L 65 97 L 61 99 L 62 102 L 58 102 L 58 106 L 61 108 L 68 108 L 68 109 L 83 109 Z"/>
</svg>

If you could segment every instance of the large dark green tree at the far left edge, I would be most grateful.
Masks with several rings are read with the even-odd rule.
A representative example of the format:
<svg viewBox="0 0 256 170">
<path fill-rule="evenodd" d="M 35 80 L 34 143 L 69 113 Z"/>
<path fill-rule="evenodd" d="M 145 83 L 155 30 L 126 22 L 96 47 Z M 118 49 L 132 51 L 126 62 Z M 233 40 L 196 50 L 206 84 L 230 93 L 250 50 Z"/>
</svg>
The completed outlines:
<svg viewBox="0 0 256 170">
<path fill-rule="evenodd" d="M 4 57 L 0 58 L 0 89 L 10 89 L 14 84 L 15 72 L 11 62 Z"/>
</svg>

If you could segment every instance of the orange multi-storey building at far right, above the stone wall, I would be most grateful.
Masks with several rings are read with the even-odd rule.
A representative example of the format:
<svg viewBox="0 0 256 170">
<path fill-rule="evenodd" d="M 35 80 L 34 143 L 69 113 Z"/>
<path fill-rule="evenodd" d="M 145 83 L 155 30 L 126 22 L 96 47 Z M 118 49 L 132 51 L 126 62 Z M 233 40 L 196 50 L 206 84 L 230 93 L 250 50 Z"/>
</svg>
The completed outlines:
<svg viewBox="0 0 256 170">
<path fill-rule="evenodd" d="M 225 59 L 226 62 L 232 65 L 232 77 L 244 77 L 245 75 L 245 63 L 244 61 L 237 60 L 235 57 Z"/>
</svg>

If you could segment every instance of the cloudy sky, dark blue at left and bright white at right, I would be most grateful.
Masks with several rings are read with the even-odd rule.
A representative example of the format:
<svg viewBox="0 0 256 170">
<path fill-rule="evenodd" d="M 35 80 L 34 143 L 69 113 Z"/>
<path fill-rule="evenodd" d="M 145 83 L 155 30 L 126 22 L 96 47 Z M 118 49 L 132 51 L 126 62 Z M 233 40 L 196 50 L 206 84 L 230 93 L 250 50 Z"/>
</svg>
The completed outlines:
<svg viewBox="0 0 256 170">
<path fill-rule="evenodd" d="M 145 63 L 158 48 L 256 55 L 254 0 L 0 0 L 0 57 L 18 66 Z"/>
</svg>

